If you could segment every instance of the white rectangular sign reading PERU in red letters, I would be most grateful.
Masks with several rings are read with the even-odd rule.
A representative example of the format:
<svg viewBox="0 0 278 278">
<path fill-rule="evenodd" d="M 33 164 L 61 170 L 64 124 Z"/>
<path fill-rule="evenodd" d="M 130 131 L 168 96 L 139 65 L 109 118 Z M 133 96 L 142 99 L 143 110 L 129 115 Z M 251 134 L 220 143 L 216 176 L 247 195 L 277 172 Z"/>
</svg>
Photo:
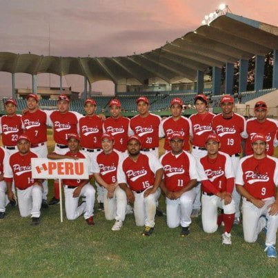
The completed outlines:
<svg viewBox="0 0 278 278">
<path fill-rule="evenodd" d="M 89 179 L 86 159 L 32 158 L 33 179 Z"/>
</svg>

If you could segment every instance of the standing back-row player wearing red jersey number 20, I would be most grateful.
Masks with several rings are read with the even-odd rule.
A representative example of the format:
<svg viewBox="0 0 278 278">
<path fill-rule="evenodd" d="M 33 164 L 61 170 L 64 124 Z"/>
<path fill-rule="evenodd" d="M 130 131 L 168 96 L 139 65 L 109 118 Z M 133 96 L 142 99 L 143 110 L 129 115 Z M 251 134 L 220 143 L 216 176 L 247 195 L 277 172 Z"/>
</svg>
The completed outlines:
<svg viewBox="0 0 278 278">
<path fill-rule="evenodd" d="M 136 103 L 139 115 L 130 119 L 130 128 L 141 139 L 141 151 L 158 158 L 161 117 L 149 112 L 150 101 L 147 97 L 139 97 Z"/>
</svg>

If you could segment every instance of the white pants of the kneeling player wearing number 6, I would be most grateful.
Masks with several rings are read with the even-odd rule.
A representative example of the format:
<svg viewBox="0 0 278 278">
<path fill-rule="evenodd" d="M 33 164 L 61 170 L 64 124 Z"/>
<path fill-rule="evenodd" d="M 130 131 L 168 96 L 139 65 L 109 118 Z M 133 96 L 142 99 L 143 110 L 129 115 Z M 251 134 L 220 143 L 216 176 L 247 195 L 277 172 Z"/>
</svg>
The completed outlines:
<svg viewBox="0 0 278 278">
<path fill-rule="evenodd" d="M 126 217 L 126 192 L 124 192 L 119 186 L 115 189 L 114 197 L 112 199 L 107 197 L 106 188 L 104 188 L 104 215 L 106 220 L 121 220 L 124 221 Z"/>
</svg>

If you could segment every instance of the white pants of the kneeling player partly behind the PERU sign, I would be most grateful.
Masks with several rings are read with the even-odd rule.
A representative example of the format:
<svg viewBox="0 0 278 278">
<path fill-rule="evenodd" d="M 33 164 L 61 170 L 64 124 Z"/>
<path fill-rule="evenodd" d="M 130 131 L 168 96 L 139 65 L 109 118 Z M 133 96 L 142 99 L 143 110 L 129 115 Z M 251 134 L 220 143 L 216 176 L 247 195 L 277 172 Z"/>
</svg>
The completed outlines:
<svg viewBox="0 0 278 278">
<path fill-rule="evenodd" d="M 75 188 L 68 188 L 66 185 L 64 185 L 63 188 L 65 192 L 66 217 L 68 220 L 75 220 L 83 213 L 85 219 L 94 215 L 95 188 L 90 183 L 83 186 L 80 195 L 77 198 L 73 197 Z M 80 197 L 86 197 L 86 201 L 78 206 Z"/>
</svg>

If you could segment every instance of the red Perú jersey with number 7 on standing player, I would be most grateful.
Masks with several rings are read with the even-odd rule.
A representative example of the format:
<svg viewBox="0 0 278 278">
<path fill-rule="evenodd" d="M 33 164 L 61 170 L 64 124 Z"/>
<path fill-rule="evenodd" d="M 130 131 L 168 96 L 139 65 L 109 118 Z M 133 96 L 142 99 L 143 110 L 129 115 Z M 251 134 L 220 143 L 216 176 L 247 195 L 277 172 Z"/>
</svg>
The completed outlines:
<svg viewBox="0 0 278 278">
<path fill-rule="evenodd" d="M 26 112 L 21 117 L 24 126 L 24 133 L 28 135 L 32 144 L 46 142 L 47 125 L 49 125 L 48 115 L 42 110 L 37 110 L 33 113 Z"/>
</svg>

